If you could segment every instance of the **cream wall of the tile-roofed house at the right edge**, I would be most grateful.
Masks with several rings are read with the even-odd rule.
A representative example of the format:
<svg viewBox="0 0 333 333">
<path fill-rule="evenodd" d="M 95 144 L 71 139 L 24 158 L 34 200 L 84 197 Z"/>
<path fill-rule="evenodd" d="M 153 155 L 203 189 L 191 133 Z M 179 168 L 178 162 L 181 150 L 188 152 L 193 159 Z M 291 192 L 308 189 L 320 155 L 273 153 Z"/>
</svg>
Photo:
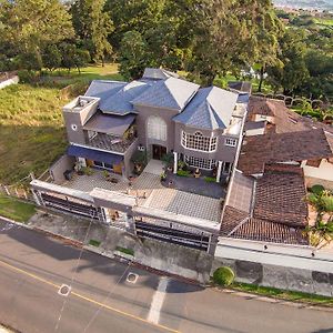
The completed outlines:
<svg viewBox="0 0 333 333">
<path fill-rule="evenodd" d="M 327 183 L 330 188 L 333 188 L 333 163 L 327 162 L 327 160 L 322 160 L 320 167 L 314 168 L 306 165 L 306 161 L 303 161 L 301 165 L 309 183 L 317 180 L 315 184 L 321 184 L 321 181 L 323 181 Z"/>
</svg>

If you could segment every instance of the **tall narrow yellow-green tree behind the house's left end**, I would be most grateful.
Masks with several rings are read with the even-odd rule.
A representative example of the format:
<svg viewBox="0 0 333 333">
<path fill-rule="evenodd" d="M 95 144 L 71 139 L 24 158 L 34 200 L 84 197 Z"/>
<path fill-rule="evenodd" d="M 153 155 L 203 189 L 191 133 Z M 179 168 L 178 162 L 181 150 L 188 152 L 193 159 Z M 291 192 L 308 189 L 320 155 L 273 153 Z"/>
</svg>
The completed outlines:
<svg viewBox="0 0 333 333">
<path fill-rule="evenodd" d="M 105 57 L 112 53 L 108 38 L 113 31 L 113 23 L 103 8 L 104 0 L 77 0 L 70 11 L 75 32 L 90 51 L 92 60 L 101 61 L 104 65 Z"/>
</svg>

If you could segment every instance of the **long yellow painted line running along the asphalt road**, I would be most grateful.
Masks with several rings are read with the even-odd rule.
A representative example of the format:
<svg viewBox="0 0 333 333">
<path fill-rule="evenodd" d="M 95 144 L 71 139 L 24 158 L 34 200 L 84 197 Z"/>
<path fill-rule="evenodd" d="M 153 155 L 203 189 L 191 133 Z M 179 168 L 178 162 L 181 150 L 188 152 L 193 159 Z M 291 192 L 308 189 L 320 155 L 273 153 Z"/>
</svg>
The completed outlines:
<svg viewBox="0 0 333 333">
<path fill-rule="evenodd" d="M 58 289 L 58 290 L 59 290 L 60 286 L 61 286 L 60 284 L 56 284 L 56 283 L 53 283 L 53 282 L 51 282 L 51 281 L 49 281 L 49 280 L 46 280 L 46 279 L 43 279 L 43 278 L 40 278 L 40 276 L 38 276 L 38 275 L 33 274 L 33 273 L 27 272 L 27 271 L 24 271 L 24 270 L 22 270 L 22 269 L 19 269 L 19 268 L 17 268 L 17 266 L 14 266 L 14 265 L 11 265 L 11 264 L 4 262 L 4 261 L 2 261 L 2 260 L 0 260 L 0 265 L 2 265 L 2 266 L 4 266 L 4 268 L 8 268 L 8 269 L 10 269 L 10 270 L 12 270 L 12 271 L 16 271 L 16 272 L 18 272 L 18 273 L 20 273 L 20 274 L 27 275 L 27 276 L 29 276 L 29 278 L 31 278 L 31 279 L 33 279 L 33 280 L 38 280 L 38 281 L 40 281 L 40 282 L 42 282 L 42 283 L 46 283 L 46 284 L 48 284 L 48 285 L 51 285 L 51 286 L 53 286 L 53 287 L 56 287 L 56 289 Z M 77 293 L 77 292 L 73 292 L 73 291 L 72 291 L 72 292 L 71 292 L 71 295 L 74 295 L 74 296 L 78 297 L 78 299 L 81 299 L 81 300 L 83 300 L 83 301 L 93 303 L 93 304 L 95 304 L 95 305 L 99 305 L 99 306 L 101 306 L 101 307 L 103 307 L 103 309 L 107 309 L 107 310 L 110 310 L 110 311 L 112 311 L 112 312 L 115 312 L 115 313 L 121 314 L 121 315 L 123 315 L 123 316 L 131 317 L 131 319 L 133 319 L 133 320 L 143 322 L 143 323 L 145 323 L 145 324 L 157 326 L 157 327 L 162 329 L 162 330 L 164 330 L 164 331 L 172 332 L 172 333 L 180 333 L 180 332 L 176 331 L 176 330 L 170 329 L 170 327 L 164 326 L 164 325 L 160 325 L 159 323 L 150 322 L 150 321 L 148 321 L 148 320 L 145 320 L 145 319 L 143 319 L 143 317 L 137 316 L 137 315 L 134 315 L 134 314 L 124 312 L 124 311 L 122 311 L 122 310 L 112 307 L 112 306 L 107 305 L 107 304 L 103 304 L 103 303 L 101 303 L 101 302 L 98 302 L 98 301 L 95 301 L 95 300 L 93 300 L 93 299 L 90 299 L 90 297 L 84 296 L 84 295 L 82 295 L 82 294 L 79 294 L 79 293 Z"/>
</svg>

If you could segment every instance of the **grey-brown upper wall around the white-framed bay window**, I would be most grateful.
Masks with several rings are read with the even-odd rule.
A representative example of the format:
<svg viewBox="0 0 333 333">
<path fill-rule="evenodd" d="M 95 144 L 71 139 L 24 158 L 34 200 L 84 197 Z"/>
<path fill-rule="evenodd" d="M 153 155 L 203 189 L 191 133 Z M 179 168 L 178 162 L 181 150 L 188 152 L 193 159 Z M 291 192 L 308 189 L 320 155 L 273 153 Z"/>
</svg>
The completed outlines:
<svg viewBox="0 0 333 333">
<path fill-rule="evenodd" d="M 204 137 L 216 137 L 218 135 L 218 149 L 214 152 L 202 152 L 191 149 L 185 149 L 181 144 L 182 131 L 186 133 L 194 134 L 195 132 L 201 132 Z M 226 138 L 232 138 L 239 140 L 236 135 L 225 135 L 223 130 L 202 130 L 195 128 L 185 127 L 182 123 L 175 123 L 175 135 L 174 135 L 174 151 L 178 153 L 183 153 L 194 158 L 203 158 L 206 160 L 219 160 L 224 162 L 233 162 L 236 154 L 236 147 L 228 147 L 224 144 Z"/>
</svg>

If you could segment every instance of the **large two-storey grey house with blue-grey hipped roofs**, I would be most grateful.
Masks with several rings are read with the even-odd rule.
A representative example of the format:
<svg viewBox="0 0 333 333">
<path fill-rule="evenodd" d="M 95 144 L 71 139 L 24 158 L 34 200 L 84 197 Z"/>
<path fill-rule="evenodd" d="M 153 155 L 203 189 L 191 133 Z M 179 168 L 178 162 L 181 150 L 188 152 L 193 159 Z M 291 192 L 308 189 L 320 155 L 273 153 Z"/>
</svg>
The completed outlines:
<svg viewBox="0 0 333 333">
<path fill-rule="evenodd" d="M 92 81 L 83 97 L 63 108 L 68 154 L 83 167 L 129 176 L 137 150 L 160 160 L 229 174 L 240 140 L 244 103 L 239 93 L 200 88 L 162 69 L 147 69 L 141 80 Z"/>
</svg>

